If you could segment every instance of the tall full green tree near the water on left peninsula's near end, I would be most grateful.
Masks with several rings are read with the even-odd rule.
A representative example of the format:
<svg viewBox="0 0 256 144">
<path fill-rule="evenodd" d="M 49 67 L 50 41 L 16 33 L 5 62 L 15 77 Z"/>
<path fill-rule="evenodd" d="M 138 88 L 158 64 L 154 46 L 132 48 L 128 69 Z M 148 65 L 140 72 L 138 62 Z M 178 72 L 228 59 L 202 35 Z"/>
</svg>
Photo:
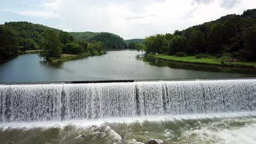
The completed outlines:
<svg viewBox="0 0 256 144">
<path fill-rule="evenodd" d="M 47 61 L 50 57 L 60 57 L 62 53 L 62 44 L 60 36 L 53 30 L 45 32 L 43 43 L 40 44 L 39 56 L 45 58 Z"/>
</svg>

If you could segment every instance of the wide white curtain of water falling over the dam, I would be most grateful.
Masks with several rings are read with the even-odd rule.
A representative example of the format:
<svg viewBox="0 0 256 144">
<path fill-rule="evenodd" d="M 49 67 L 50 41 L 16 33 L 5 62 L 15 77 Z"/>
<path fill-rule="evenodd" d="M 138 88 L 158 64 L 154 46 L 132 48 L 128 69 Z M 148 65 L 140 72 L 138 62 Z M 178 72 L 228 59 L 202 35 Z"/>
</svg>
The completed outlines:
<svg viewBox="0 0 256 144">
<path fill-rule="evenodd" d="M 0 86 L 0 122 L 256 110 L 256 80 Z"/>
</svg>

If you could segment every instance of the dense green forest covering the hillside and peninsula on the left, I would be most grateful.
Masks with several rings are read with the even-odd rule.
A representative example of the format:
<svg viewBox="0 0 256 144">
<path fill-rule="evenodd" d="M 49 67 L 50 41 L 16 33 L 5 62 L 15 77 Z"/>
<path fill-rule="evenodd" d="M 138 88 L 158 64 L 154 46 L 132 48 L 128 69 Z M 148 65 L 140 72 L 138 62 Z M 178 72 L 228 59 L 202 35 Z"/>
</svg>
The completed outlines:
<svg viewBox="0 0 256 144">
<path fill-rule="evenodd" d="M 40 56 L 49 60 L 62 53 L 79 55 L 102 51 L 101 41 L 74 41 L 72 35 L 59 29 L 30 22 L 5 22 L 0 25 L 0 63 L 18 56 L 18 52 L 42 50 Z"/>
</svg>

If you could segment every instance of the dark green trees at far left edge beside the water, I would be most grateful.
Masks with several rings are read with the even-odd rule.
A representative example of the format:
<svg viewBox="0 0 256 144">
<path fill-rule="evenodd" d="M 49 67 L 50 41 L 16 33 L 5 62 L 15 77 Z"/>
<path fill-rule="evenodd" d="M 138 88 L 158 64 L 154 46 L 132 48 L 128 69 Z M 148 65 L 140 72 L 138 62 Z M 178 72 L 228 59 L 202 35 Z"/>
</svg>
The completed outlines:
<svg viewBox="0 0 256 144">
<path fill-rule="evenodd" d="M 0 25 L 0 63 L 18 55 L 18 35 L 9 27 Z"/>
</svg>

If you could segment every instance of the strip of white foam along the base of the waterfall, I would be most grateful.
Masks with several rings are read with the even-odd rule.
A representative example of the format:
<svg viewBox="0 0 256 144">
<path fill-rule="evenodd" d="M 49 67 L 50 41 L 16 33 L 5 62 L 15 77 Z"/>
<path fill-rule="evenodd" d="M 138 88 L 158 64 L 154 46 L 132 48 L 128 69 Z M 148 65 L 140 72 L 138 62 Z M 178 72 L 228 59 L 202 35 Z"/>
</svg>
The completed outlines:
<svg viewBox="0 0 256 144">
<path fill-rule="evenodd" d="M 9 122 L 0 123 L 0 128 L 64 128 L 67 125 L 75 127 L 91 127 L 92 125 L 100 126 L 104 123 L 142 123 L 144 121 L 160 122 L 160 121 L 174 121 L 182 119 L 203 119 L 203 118 L 232 118 L 232 117 L 250 117 L 256 116 L 256 112 L 234 112 L 234 113 L 211 113 L 211 114 L 197 114 L 197 115 L 166 115 L 166 116 L 141 116 L 141 117 L 127 117 L 127 118 L 102 118 L 94 120 L 73 120 L 73 121 L 46 121 L 46 122 Z"/>
</svg>

